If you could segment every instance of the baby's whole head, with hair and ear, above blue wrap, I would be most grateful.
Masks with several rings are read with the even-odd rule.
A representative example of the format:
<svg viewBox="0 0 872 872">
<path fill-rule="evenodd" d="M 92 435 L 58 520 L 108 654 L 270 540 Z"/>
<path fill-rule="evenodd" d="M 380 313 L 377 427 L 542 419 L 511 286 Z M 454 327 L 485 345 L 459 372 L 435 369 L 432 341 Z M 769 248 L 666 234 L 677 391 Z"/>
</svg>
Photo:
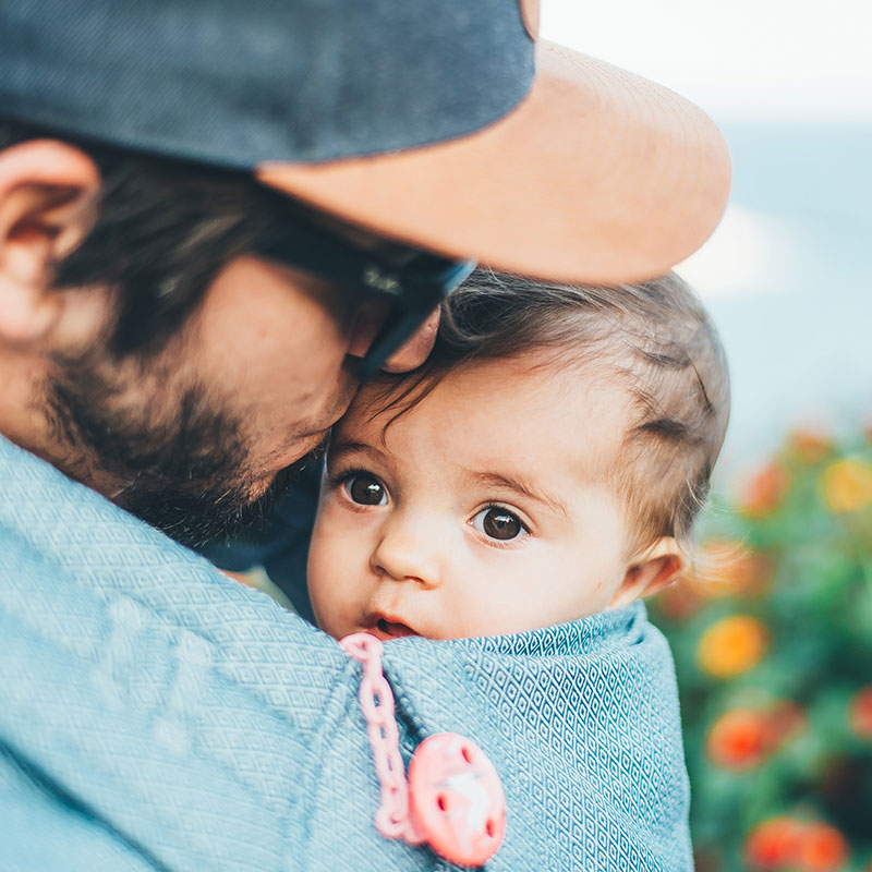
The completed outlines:
<svg viewBox="0 0 872 872">
<path fill-rule="evenodd" d="M 476 271 L 424 367 L 365 385 L 334 428 L 308 557 L 318 625 L 495 635 L 661 590 L 728 410 L 723 348 L 678 277 Z"/>
</svg>

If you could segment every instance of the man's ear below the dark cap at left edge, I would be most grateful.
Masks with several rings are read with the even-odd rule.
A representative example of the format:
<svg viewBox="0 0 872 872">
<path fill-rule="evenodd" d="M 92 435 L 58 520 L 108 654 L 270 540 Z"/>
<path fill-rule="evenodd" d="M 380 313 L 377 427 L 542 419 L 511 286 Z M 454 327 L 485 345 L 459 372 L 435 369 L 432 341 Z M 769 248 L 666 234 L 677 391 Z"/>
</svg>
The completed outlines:
<svg viewBox="0 0 872 872">
<path fill-rule="evenodd" d="M 52 267 L 90 229 L 99 184 L 94 161 L 65 143 L 0 150 L 0 343 L 27 344 L 55 326 Z"/>
</svg>

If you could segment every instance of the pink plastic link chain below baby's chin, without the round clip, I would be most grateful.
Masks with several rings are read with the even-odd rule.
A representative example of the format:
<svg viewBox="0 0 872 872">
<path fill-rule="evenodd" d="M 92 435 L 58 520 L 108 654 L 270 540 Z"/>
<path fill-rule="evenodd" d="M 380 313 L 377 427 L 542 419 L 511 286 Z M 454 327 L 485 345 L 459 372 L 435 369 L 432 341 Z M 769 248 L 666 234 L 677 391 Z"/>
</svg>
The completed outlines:
<svg viewBox="0 0 872 872">
<path fill-rule="evenodd" d="M 373 760 L 382 785 L 382 806 L 375 825 L 385 838 L 401 838 L 420 845 L 426 836 L 409 814 L 409 786 L 400 756 L 400 735 L 393 714 L 393 693 L 382 673 L 382 641 L 370 633 L 353 633 L 339 643 L 347 654 L 363 664 L 360 700 Z"/>
</svg>

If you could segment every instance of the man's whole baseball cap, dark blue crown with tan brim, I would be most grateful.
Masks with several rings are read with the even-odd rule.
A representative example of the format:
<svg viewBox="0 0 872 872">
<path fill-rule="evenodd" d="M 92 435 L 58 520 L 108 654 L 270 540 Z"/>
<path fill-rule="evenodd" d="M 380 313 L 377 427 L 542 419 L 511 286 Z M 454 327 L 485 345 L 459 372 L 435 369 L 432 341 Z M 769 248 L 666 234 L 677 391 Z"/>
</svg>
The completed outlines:
<svg viewBox="0 0 872 872">
<path fill-rule="evenodd" d="M 560 280 L 666 271 L 729 184 L 701 110 L 537 39 L 535 0 L 7 0 L 0 114 Z"/>
</svg>

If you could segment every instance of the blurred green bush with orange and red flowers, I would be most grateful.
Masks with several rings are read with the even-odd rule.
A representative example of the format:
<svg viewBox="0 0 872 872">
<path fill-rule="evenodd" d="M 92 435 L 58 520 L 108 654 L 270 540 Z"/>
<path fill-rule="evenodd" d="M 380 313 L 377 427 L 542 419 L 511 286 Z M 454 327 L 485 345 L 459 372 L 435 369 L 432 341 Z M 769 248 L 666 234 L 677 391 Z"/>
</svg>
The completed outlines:
<svg viewBox="0 0 872 872">
<path fill-rule="evenodd" d="M 872 428 L 790 434 L 651 604 L 699 872 L 872 872 Z"/>
</svg>

